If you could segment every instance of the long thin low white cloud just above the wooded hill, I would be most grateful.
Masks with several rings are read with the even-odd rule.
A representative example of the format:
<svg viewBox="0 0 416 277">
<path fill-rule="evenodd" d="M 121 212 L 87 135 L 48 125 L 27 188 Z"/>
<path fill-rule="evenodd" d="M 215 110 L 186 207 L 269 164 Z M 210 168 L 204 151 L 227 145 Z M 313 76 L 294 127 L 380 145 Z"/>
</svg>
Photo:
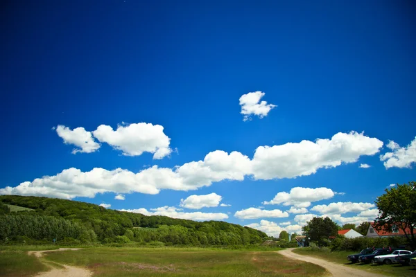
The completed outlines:
<svg viewBox="0 0 416 277">
<path fill-rule="evenodd" d="M 193 212 L 193 213 L 184 213 L 181 209 L 175 207 L 159 207 L 159 208 L 151 208 L 150 211 L 146 210 L 146 208 L 137 208 L 133 210 L 119 210 L 123 212 L 130 212 L 130 213 L 141 213 L 142 215 L 164 215 L 167 217 L 173 218 L 181 218 L 183 220 L 225 220 L 228 218 L 228 215 L 225 213 L 201 213 L 201 212 Z"/>
</svg>

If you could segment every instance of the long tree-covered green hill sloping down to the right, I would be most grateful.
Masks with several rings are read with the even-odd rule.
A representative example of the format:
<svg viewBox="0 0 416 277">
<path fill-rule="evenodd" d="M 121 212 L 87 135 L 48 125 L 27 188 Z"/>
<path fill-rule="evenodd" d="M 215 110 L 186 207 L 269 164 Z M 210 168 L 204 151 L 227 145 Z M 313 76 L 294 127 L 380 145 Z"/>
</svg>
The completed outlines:
<svg viewBox="0 0 416 277">
<path fill-rule="evenodd" d="M 227 222 L 146 216 L 65 199 L 1 195 L 0 202 L 11 205 L 10 210 L 27 209 L 0 215 L 0 240 L 23 236 L 34 240 L 57 238 L 80 242 L 135 241 L 200 246 L 259 244 L 267 238 L 266 233 Z"/>
</svg>

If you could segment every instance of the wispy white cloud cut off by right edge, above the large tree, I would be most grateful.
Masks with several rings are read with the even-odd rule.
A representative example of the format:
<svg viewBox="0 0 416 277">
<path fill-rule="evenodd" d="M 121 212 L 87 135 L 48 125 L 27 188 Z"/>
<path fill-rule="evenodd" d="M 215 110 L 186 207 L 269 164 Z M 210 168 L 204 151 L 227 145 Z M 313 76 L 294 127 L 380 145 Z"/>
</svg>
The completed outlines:
<svg viewBox="0 0 416 277">
<path fill-rule="evenodd" d="M 394 141 L 387 145 L 392 152 L 380 155 L 380 161 L 384 161 L 384 167 L 388 168 L 410 168 L 416 162 L 416 137 L 407 147 L 400 147 Z"/>
</svg>

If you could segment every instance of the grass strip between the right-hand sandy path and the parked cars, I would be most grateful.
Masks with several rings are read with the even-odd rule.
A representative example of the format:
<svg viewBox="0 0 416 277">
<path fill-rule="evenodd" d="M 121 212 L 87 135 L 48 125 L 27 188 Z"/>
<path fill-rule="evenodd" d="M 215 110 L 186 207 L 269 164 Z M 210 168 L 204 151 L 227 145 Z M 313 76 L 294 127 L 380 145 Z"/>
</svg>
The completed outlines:
<svg viewBox="0 0 416 277">
<path fill-rule="evenodd" d="M 333 251 L 333 252 L 321 252 L 321 251 L 311 251 L 309 248 L 299 248 L 295 249 L 293 252 L 312 256 L 316 258 L 322 258 L 324 260 L 329 260 L 331 262 L 336 262 L 347 267 L 353 267 L 354 269 L 362 269 L 365 271 L 370 271 L 373 273 L 384 274 L 388 276 L 403 276 L 403 277 L 415 277 L 416 269 L 410 266 L 402 265 L 372 265 L 372 264 L 361 264 L 361 263 L 351 263 L 347 260 L 347 256 L 350 254 L 357 253 L 350 251 Z"/>
</svg>

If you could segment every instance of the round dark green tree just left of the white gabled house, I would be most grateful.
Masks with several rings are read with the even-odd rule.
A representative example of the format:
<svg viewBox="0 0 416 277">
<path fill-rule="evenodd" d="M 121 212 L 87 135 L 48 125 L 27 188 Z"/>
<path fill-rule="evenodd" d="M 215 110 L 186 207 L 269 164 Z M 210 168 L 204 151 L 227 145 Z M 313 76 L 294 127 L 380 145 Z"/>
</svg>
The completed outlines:
<svg viewBox="0 0 416 277">
<path fill-rule="evenodd" d="M 329 217 L 313 217 L 312 220 L 302 227 L 306 238 L 319 246 L 326 246 L 329 243 L 329 237 L 335 237 L 338 233 L 338 224 L 333 222 Z"/>
</svg>

